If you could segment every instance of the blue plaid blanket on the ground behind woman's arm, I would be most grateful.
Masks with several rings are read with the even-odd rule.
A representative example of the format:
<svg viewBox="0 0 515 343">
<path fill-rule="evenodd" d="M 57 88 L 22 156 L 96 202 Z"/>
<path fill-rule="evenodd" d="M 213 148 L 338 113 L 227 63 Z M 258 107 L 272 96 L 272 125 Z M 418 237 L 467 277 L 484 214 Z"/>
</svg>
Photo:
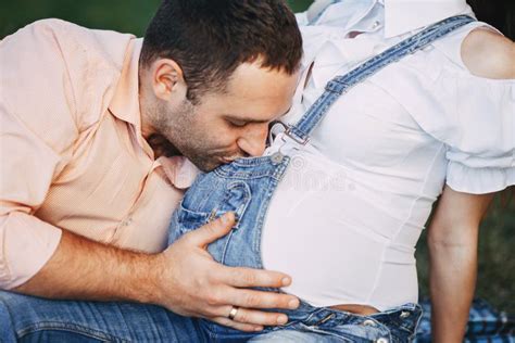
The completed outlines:
<svg viewBox="0 0 515 343">
<path fill-rule="evenodd" d="M 417 343 L 431 342 L 431 305 L 422 301 L 424 309 L 418 326 Z M 470 343 L 515 343 L 515 317 L 497 312 L 482 300 L 475 300 L 470 308 L 465 341 Z"/>
</svg>

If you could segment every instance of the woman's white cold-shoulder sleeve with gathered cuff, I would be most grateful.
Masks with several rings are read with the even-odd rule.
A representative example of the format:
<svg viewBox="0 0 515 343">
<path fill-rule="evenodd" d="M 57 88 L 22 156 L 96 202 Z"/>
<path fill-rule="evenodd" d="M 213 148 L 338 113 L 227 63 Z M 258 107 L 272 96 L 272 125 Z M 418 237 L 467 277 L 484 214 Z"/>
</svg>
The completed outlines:
<svg viewBox="0 0 515 343">
<path fill-rule="evenodd" d="M 473 23 L 435 48 L 453 67 L 442 69 L 436 88 L 443 112 L 426 129 L 448 145 L 447 183 L 456 191 L 488 193 L 515 185 L 515 79 L 472 75 L 461 42 L 483 23 Z"/>
</svg>

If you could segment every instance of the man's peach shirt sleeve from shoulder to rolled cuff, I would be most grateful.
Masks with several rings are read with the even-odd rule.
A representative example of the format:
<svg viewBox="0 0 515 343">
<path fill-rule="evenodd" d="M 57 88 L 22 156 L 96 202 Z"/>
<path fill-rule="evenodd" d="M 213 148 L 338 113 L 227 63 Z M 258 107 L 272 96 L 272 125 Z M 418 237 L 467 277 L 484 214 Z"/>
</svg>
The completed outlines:
<svg viewBox="0 0 515 343">
<path fill-rule="evenodd" d="M 58 26 L 39 22 L 0 41 L 0 289 L 37 274 L 62 233 L 35 216 L 78 137 Z"/>
</svg>

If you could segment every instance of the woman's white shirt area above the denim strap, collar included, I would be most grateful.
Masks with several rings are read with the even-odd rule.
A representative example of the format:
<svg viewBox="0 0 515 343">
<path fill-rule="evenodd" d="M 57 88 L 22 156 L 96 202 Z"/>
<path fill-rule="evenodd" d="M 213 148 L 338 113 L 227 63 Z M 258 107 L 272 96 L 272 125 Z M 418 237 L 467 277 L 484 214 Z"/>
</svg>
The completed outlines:
<svg viewBox="0 0 515 343">
<path fill-rule="evenodd" d="M 326 7 L 321 9 L 322 2 Z M 465 0 L 317 0 L 318 7 L 301 26 L 304 38 L 303 66 L 312 61 L 310 82 L 303 94 L 313 99 L 335 75 L 388 48 L 388 40 L 402 39 L 427 25 L 457 14 L 474 15 Z M 441 5 L 442 4 L 442 5 Z M 313 10 L 313 9 L 310 9 Z M 422 14 L 424 13 L 424 14 Z M 409 14 L 409 15 L 406 15 Z M 370 33 L 348 39 L 350 31 Z M 393 38 L 397 37 L 397 38 Z M 397 41 L 397 40 L 395 40 Z"/>
</svg>

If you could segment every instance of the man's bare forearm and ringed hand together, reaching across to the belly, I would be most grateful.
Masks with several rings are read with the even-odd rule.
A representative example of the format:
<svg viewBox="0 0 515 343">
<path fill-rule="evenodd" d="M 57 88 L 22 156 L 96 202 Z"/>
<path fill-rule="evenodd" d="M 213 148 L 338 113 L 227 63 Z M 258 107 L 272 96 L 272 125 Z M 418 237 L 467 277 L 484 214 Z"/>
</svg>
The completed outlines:
<svg viewBox="0 0 515 343">
<path fill-rule="evenodd" d="M 208 253 L 208 244 L 234 226 L 234 214 L 225 219 L 185 234 L 160 254 L 122 250 L 63 230 L 50 261 L 12 291 L 48 298 L 156 304 L 243 331 L 286 322 L 282 314 L 256 308 L 294 308 L 298 298 L 247 288 L 285 287 L 291 282 L 288 276 L 226 267 Z M 228 318 L 233 306 L 240 307 L 234 320 Z"/>
</svg>

